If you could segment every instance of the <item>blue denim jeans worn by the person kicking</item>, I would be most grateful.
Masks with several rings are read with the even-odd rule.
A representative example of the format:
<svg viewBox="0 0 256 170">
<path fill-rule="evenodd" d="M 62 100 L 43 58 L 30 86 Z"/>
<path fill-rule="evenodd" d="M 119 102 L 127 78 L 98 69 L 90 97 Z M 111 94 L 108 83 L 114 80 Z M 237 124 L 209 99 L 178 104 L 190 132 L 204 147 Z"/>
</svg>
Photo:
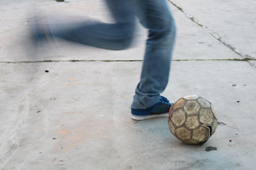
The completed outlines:
<svg viewBox="0 0 256 170">
<path fill-rule="evenodd" d="M 156 104 L 166 88 L 170 73 L 175 22 L 166 0 L 106 0 L 115 19 L 114 24 L 90 22 L 68 30 L 55 31 L 53 36 L 74 43 L 122 50 L 131 45 L 134 20 L 148 29 L 147 46 L 132 109 L 146 109 Z"/>
</svg>

